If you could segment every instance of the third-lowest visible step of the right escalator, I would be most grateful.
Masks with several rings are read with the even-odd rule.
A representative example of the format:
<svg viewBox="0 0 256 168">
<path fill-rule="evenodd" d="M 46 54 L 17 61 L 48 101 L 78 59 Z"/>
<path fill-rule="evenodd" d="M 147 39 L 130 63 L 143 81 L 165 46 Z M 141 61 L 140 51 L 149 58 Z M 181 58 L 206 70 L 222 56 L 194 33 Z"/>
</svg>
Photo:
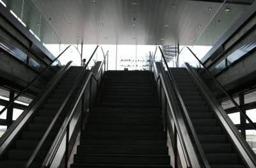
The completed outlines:
<svg viewBox="0 0 256 168">
<path fill-rule="evenodd" d="M 227 143 L 202 143 L 204 153 L 231 153 L 232 146 Z"/>
</svg>

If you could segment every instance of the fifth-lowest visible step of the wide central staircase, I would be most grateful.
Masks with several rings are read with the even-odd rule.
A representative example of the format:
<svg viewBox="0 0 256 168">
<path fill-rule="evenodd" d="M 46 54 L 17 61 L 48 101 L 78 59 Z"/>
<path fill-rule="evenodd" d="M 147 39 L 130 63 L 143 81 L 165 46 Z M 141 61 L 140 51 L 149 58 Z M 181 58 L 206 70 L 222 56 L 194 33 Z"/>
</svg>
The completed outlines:
<svg viewBox="0 0 256 168">
<path fill-rule="evenodd" d="M 151 137 L 161 138 L 165 137 L 164 131 L 150 131 L 145 130 L 83 130 L 83 137 Z"/>
</svg>

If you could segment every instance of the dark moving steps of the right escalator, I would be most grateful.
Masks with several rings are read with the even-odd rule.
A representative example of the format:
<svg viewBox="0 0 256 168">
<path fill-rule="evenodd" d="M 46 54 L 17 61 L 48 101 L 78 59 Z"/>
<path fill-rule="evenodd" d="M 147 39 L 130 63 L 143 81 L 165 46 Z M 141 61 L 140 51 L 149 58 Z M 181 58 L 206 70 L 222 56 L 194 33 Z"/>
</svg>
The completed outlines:
<svg viewBox="0 0 256 168">
<path fill-rule="evenodd" d="M 244 168 L 236 148 L 185 68 L 170 68 L 205 156 L 212 168 Z"/>
</svg>

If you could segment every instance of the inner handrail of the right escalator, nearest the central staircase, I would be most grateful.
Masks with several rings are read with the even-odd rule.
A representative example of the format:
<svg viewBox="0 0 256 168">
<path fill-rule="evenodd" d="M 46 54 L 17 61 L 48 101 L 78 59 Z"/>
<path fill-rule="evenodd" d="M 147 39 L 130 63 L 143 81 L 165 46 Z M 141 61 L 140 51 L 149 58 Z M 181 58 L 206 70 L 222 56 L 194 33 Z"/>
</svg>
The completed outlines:
<svg viewBox="0 0 256 168">
<path fill-rule="evenodd" d="M 200 142 L 199 142 L 198 137 L 196 136 L 196 131 L 195 131 L 195 128 L 194 128 L 194 126 L 193 126 L 193 124 L 192 124 L 192 122 L 191 122 L 191 119 L 190 119 L 189 115 L 188 115 L 188 111 L 187 111 L 187 109 L 186 109 L 186 106 L 185 106 L 185 104 L 184 104 L 184 102 L 183 102 L 183 100 L 182 100 L 182 98 L 181 98 L 181 95 L 180 95 L 179 89 L 178 89 L 178 87 L 177 87 L 177 84 L 176 84 L 176 82 L 175 82 L 175 80 L 174 80 L 174 78 L 173 78 L 173 75 L 172 75 L 170 69 L 168 68 L 168 64 L 167 64 L 167 62 L 166 62 L 166 59 L 164 58 L 163 51 L 161 50 L 160 46 L 158 46 L 158 48 L 159 48 L 159 50 L 160 50 L 160 52 L 161 52 L 161 55 L 162 55 L 162 57 L 163 57 L 164 64 L 165 64 L 166 69 L 167 69 L 167 72 L 168 72 L 168 77 L 169 77 L 170 80 L 172 81 L 172 83 L 173 83 L 173 88 L 174 88 L 174 90 L 175 90 L 177 96 L 179 97 L 180 104 L 181 104 L 181 106 L 182 106 L 182 109 L 184 110 L 184 114 L 185 114 L 185 116 L 186 116 L 186 120 L 187 120 L 187 122 L 188 122 L 188 124 L 189 124 L 189 129 L 191 130 L 191 133 L 192 133 L 192 135 L 193 135 L 193 138 L 195 139 L 195 143 L 196 143 L 196 146 L 197 146 L 198 151 L 199 151 L 199 153 L 200 153 L 200 156 L 202 157 L 202 160 L 203 160 L 203 162 L 204 162 L 205 167 L 207 167 L 207 168 L 209 167 L 209 168 L 210 168 L 209 162 L 208 162 L 207 158 L 205 157 L 205 153 L 204 153 L 204 151 L 203 151 L 203 148 L 202 148 L 202 146 L 201 146 L 201 144 L 200 144 Z M 156 52 L 157 52 L 157 49 L 156 49 Z M 155 55 L 156 55 L 156 52 L 155 52 Z M 154 57 L 155 57 L 155 55 L 154 55 Z"/>
</svg>

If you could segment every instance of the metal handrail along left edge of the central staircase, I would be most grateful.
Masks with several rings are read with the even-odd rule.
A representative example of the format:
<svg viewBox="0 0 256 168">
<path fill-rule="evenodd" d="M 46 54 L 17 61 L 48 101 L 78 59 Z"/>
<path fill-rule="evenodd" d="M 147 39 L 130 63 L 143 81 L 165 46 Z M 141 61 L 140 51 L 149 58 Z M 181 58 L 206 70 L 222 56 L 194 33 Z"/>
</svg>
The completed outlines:
<svg viewBox="0 0 256 168">
<path fill-rule="evenodd" d="M 103 66 L 104 62 L 106 62 L 106 57 L 108 57 L 108 52 L 106 53 L 106 55 L 104 56 L 104 60 L 100 64 L 100 68 L 99 68 L 100 71 L 102 69 L 102 66 Z M 74 107 L 69 110 L 69 111 L 71 111 L 70 115 L 66 116 L 67 122 L 65 122 L 65 125 L 62 127 L 62 129 L 60 129 L 59 134 L 56 136 L 56 137 L 58 137 L 58 139 L 54 139 L 54 143 L 52 143 L 52 144 L 54 144 L 52 146 L 53 148 L 52 148 L 52 150 L 49 150 L 48 155 L 47 155 L 47 157 L 45 157 L 45 160 L 44 160 L 46 162 L 45 163 L 43 162 L 42 167 L 49 167 L 49 165 L 51 164 L 52 159 L 54 158 L 54 155 L 56 154 L 56 151 L 58 150 L 58 148 L 59 148 L 59 146 L 61 144 L 61 141 L 62 141 L 63 137 L 65 136 L 65 132 L 67 131 L 68 124 L 71 122 L 72 117 L 73 117 L 73 115 L 75 113 L 75 110 L 76 110 L 76 108 L 77 108 L 77 106 L 79 104 L 79 101 L 80 101 L 81 97 L 83 96 L 84 90 L 88 86 L 88 83 L 91 80 L 91 78 L 93 77 L 95 81 L 98 81 L 99 80 L 99 75 L 100 75 L 100 73 L 98 73 L 97 77 L 96 77 L 92 72 L 89 74 L 86 82 L 84 83 L 83 90 L 80 92 L 80 94 L 78 96 L 79 98 L 77 99 Z M 65 162 L 67 162 L 67 161 L 65 160 Z"/>
</svg>

